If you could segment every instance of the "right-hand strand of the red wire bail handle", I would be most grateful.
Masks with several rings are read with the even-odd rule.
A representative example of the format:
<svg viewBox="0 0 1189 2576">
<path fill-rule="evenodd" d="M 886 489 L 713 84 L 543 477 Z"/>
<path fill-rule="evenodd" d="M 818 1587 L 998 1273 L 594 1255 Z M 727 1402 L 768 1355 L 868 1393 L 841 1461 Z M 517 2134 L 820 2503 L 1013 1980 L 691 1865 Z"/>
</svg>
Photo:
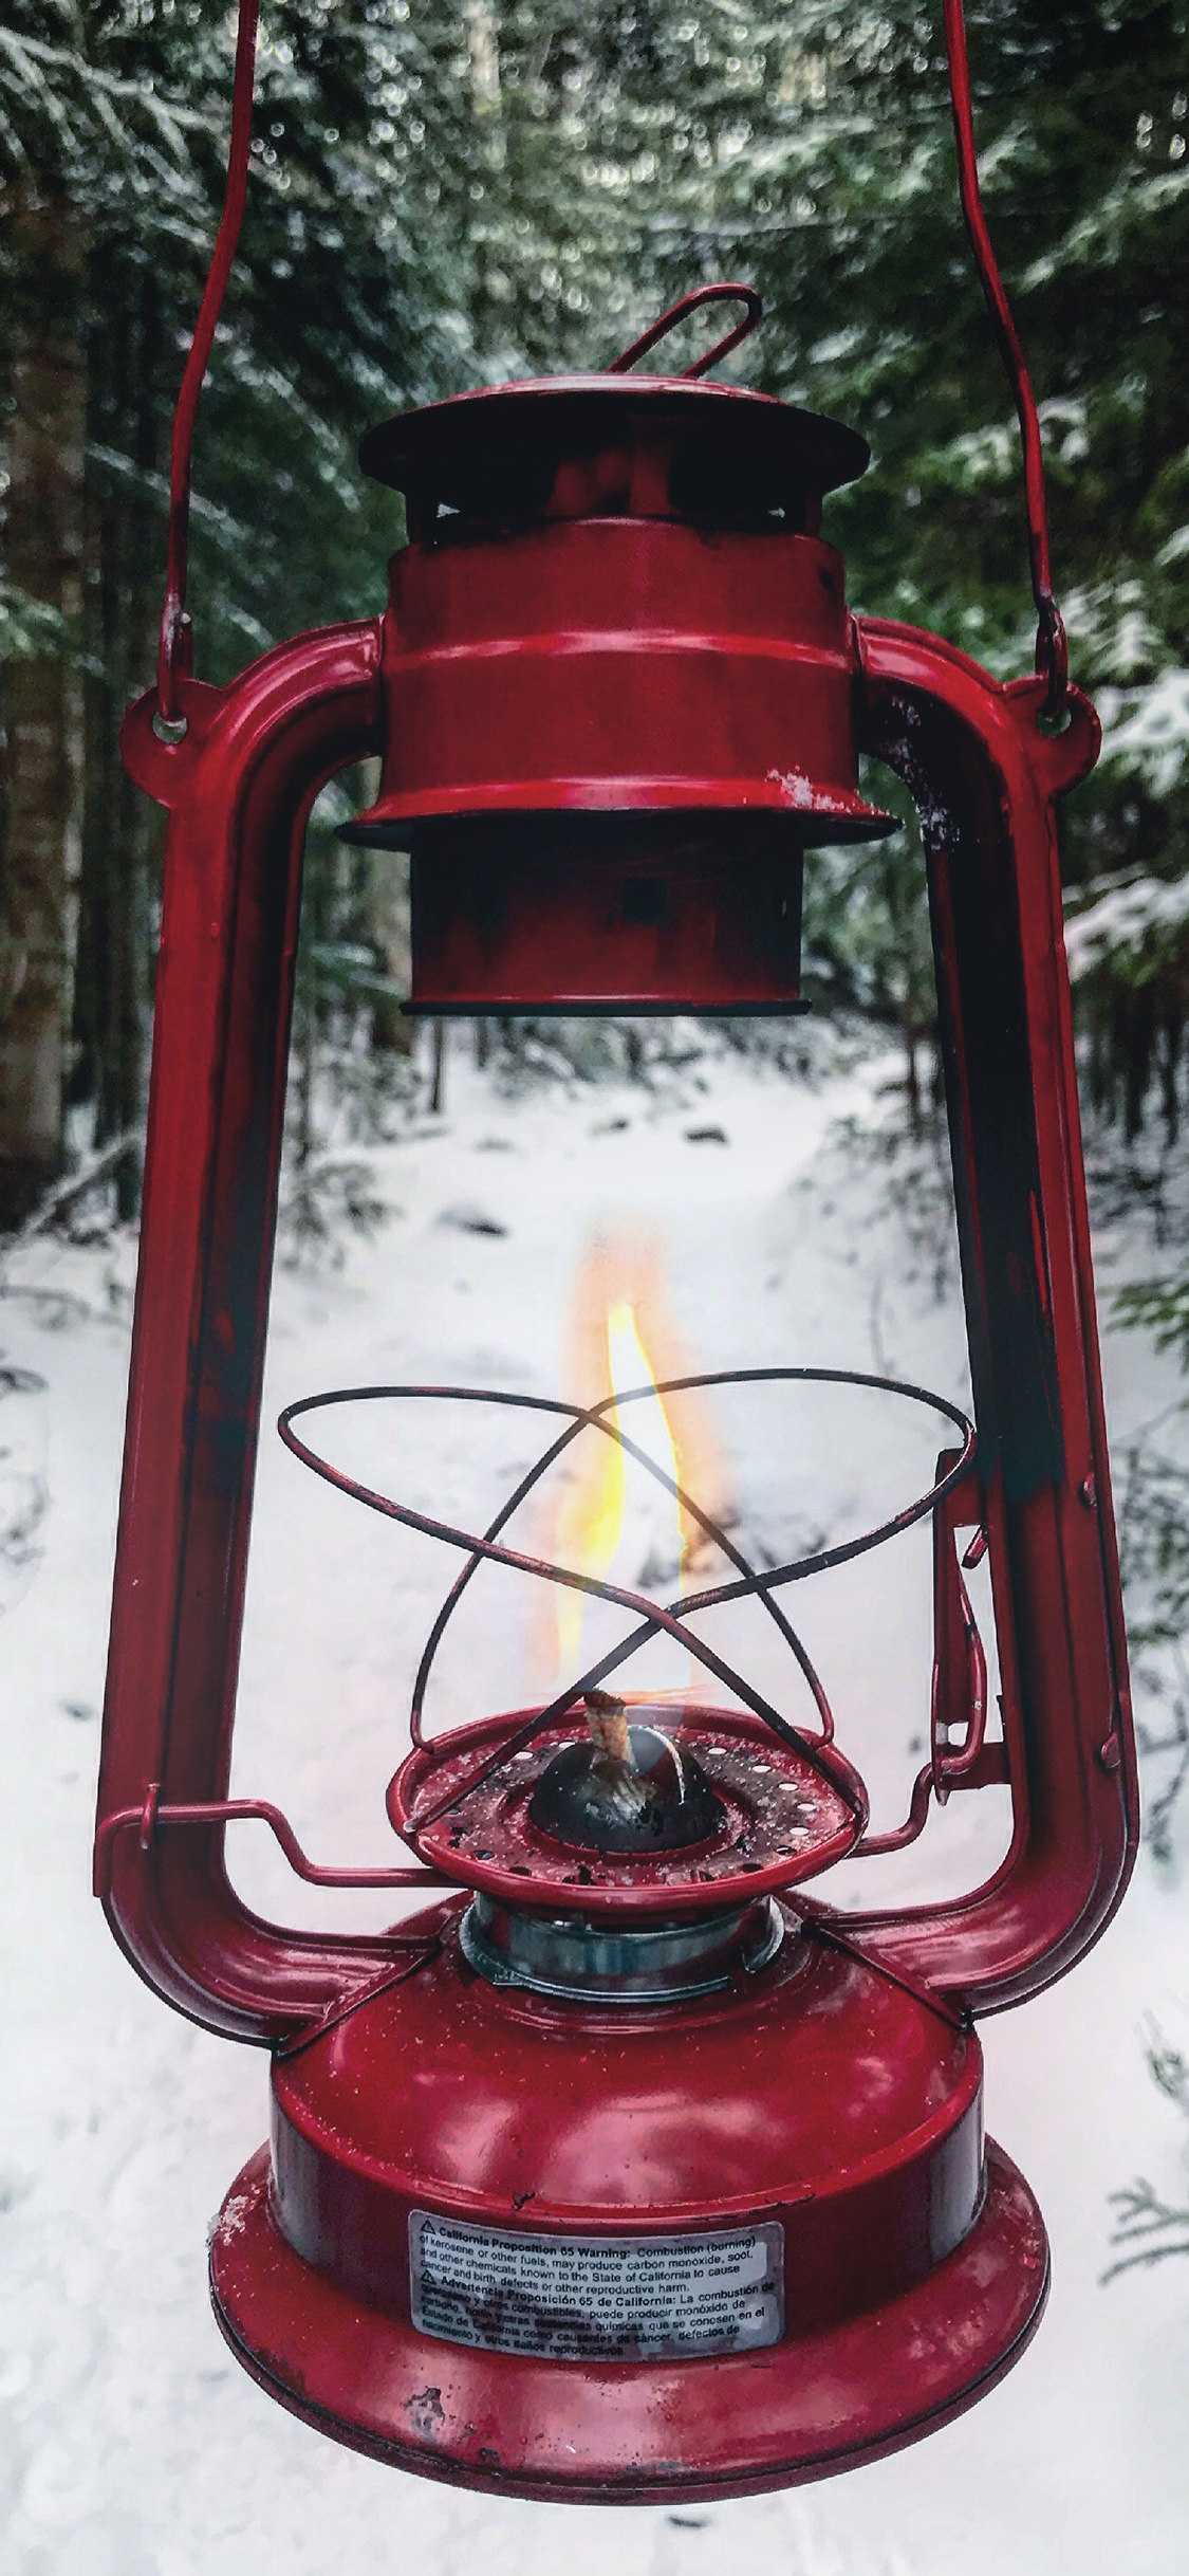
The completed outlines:
<svg viewBox="0 0 1189 2576">
<path fill-rule="evenodd" d="M 999 355 L 1004 358 L 1006 366 L 1019 417 L 1019 435 L 1024 443 L 1027 554 L 1032 569 L 1032 598 L 1037 605 L 1037 672 L 1047 680 L 1047 698 L 1042 714 L 1047 719 L 1055 719 L 1063 714 L 1068 698 L 1068 641 L 1065 641 L 1065 621 L 1053 598 L 1053 572 L 1047 559 L 1045 451 L 1040 440 L 1037 397 L 1032 392 L 1032 376 L 1027 371 L 1027 358 L 1014 325 L 1011 304 L 1006 301 L 1004 278 L 999 276 L 999 260 L 991 245 L 991 232 L 983 214 L 983 196 L 978 188 L 975 118 L 970 106 L 970 59 L 965 49 L 965 10 L 963 0 L 942 0 L 942 5 L 945 5 L 945 52 L 950 62 L 950 106 L 955 116 L 955 142 L 957 142 L 957 193 L 963 198 L 963 216 L 970 237 L 973 260 L 978 268 L 978 283 L 983 289 L 986 309 L 991 314 L 991 327 L 999 340 Z"/>
</svg>

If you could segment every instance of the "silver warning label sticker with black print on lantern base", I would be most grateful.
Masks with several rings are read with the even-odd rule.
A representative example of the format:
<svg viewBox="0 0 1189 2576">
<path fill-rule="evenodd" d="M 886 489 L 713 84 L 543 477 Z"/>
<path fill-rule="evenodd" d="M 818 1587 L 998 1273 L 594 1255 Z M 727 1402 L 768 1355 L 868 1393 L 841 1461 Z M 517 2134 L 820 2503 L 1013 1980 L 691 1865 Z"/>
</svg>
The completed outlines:
<svg viewBox="0 0 1189 2576">
<path fill-rule="evenodd" d="M 530 2236 L 409 2215 L 412 2321 L 479 2352 L 667 2362 L 757 2352 L 785 2329 L 785 2231 Z"/>
</svg>

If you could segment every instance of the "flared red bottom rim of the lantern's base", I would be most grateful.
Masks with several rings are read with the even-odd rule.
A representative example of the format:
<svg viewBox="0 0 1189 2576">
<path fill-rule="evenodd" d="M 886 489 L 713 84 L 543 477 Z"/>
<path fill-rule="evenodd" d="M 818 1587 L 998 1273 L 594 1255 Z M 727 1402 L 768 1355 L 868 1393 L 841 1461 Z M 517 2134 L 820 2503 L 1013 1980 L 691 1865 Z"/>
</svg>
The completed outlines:
<svg viewBox="0 0 1189 2576">
<path fill-rule="evenodd" d="M 970 2233 L 901 2298 L 728 2360 L 543 2362 L 438 2342 L 340 2290 L 281 2236 L 268 2177 L 260 2148 L 211 2239 L 214 2313 L 237 2362 L 329 2439 L 494 2496 L 710 2501 L 880 2460 L 1014 2367 L 1050 2285 L 1037 2200 L 988 2138 Z"/>
</svg>

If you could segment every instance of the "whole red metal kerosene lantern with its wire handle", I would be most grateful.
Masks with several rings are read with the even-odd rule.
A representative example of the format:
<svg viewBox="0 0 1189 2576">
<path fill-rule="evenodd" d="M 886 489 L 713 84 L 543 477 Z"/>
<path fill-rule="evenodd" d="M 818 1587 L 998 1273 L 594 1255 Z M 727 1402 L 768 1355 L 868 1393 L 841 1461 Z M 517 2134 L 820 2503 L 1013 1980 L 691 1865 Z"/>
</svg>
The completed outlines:
<svg viewBox="0 0 1189 2576">
<path fill-rule="evenodd" d="M 1006 688 L 934 636 L 849 618 L 818 523 L 862 440 L 697 371 L 631 374 L 672 317 L 602 376 L 376 430 L 363 461 L 409 513 L 389 613 L 283 644 L 226 690 L 183 675 L 188 435 L 242 204 L 252 18 L 180 404 L 160 693 L 124 737 L 170 837 L 98 1888 L 167 2002 L 273 2050 L 273 2143 L 211 2246 L 219 2324 L 263 2388 L 435 2478 L 744 2494 L 919 2437 L 1027 2344 L 1045 2228 L 983 2146 L 973 2017 L 1081 1958 L 1135 1847 L 1055 853 L 1055 799 L 1099 734 L 1063 672 L 960 8 L 963 188 L 1029 433 L 1042 608 L 1040 675 Z M 759 314 L 726 286 L 679 312 L 705 296 L 749 304 L 721 348 Z M 893 1525 L 932 1512 L 937 1533 L 911 1814 L 867 1834 L 780 1610 L 806 1566 L 757 1577 L 703 1512 L 736 1569 L 713 1597 L 759 1595 L 813 1728 L 677 1605 L 602 1587 L 631 1618 L 576 1692 L 430 1741 L 440 1620 L 389 1793 L 414 1865 L 317 1870 L 275 1808 L 226 1798 L 311 799 L 381 755 L 355 832 L 412 850 L 414 1007 L 780 1012 L 798 1002 L 806 850 L 888 827 L 857 793 L 860 750 L 908 783 L 926 842 L 978 1425 L 903 1391 L 957 1427 Z M 335 1476 L 293 1430 L 317 1401 L 342 1399 L 283 1427 Z M 628 1437 L 607 1406 L 538 1409 L 546 1461 L 579 1432 Z M 528 1481 L 486 1533 L 438 1533 L 466 1551 L 448 1607 L 481 1561 L 546 1571 L 502 1543 Z M 968 1530 L 963 1561 L 991 1561 L 1001 1734 Z M 672 1708 L 618 1700 L 605 1685 L 656 1628 L 741 1708 L 690 1703 L 674 1728 Z M 1011 1788 L 1014 1837 L 986 1886 L 865 1917 L 803 1893 L 839 1855 L 908 1842 L 932 1795 L 991 1780 Z M 268 1924 L 226 1878 L 232 1816 L 270 1821 L 322 1886 L 448 1893 L 394 1935 Z"/>
</svg>

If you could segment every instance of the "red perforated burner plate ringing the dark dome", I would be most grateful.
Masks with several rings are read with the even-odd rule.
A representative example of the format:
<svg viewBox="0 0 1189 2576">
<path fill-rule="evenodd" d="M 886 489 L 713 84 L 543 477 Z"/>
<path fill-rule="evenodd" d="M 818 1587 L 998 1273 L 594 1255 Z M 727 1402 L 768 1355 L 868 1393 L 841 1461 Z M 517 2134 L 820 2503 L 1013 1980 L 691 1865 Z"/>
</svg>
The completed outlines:
<svg viewBox="0 0 1189 2576">
<path fill-rule="evenodd" d="M 417 1811 L 450 1798 L 530 1716 L 486 1718 L 409 1754 L 389 1788 L 389 1816 L 417 1855 L 504 1904 L 569 1914 L 695 1914 L 813 1878 L 854 1847 L 867 1819 L 862 1780 L 834 1744 L 795 1752 L 744 1710 L 679 1710 L 643 1700 L 631 1705 L 633 1723 L 659 1726 L 677 1749 L 697 1754 L 726 1808 L 726 1824 L 708 1842 L 623 1855 L 576 1852 L 540 1834 L 528 1806 L 553 1754 L 582 1741 L 574 1723 L 548 1726 L 417 1832 Z"/>
</svg>

